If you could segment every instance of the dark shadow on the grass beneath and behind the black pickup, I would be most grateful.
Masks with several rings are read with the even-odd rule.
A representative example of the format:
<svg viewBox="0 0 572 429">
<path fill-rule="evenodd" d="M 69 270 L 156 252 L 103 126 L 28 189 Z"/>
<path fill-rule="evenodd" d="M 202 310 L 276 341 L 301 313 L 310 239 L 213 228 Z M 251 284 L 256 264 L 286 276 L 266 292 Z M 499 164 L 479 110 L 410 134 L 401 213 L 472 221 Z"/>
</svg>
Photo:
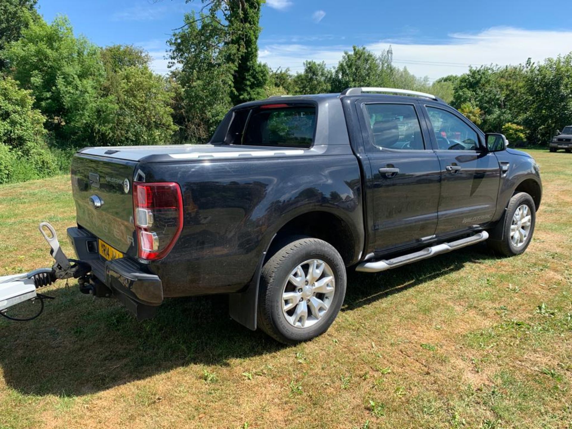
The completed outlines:
<svg viewBox="0 0 572 429">
<path fill-rule="evenodd" d="M 343 311 L 383 299 L 490 259 L 464 249 L 376 275 L 351 273 Z M 137 322 L 114 300 L 76 287 L 49 291 L 56 299 L 29 323 L 0 320 L 0 365 L 22 394 L 85 395 L 187 364 L 226 366 L 286 346 L 229 319 L 227 297 L 166 301 L 152 320 Z"/>
</svg>

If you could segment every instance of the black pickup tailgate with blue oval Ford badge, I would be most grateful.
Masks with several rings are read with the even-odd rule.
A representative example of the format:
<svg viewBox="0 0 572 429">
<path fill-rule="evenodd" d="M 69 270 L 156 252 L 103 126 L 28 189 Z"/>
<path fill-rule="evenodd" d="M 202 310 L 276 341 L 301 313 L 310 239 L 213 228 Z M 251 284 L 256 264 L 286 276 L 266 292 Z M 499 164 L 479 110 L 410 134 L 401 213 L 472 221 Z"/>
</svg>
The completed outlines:
<svg viewBox="0 0 572 429">
<path fill-rule="evenodd" d="M 132 192 L 136 165 L 77 153 L 71 168 L 77 224 L 129 256 L 137 256 Z"/>
</svg>

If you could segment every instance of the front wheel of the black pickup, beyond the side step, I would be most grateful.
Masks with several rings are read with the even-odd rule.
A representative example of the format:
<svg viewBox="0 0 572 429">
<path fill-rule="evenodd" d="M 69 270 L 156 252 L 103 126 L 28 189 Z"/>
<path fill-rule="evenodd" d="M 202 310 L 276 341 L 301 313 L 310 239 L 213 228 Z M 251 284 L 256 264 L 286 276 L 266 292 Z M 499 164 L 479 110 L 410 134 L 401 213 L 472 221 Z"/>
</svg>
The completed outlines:
<svg viewBox="0 0 572 429">
<path fill-rule="evenodd" d="M 500 222 L 503 223 L 503 240 L 488 240 L 488 246 L 505 256 L 523 253 L 534 233 L 536 209 L 533 198 L 526 192 L 514 194 Z"/>
</svg>

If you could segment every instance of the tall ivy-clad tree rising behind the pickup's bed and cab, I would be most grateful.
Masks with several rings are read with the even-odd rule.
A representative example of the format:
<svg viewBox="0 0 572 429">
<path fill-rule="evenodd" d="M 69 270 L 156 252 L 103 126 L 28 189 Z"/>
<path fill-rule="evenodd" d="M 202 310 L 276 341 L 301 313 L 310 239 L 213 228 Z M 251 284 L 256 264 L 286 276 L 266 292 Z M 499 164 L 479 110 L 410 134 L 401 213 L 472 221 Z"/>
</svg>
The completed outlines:
<svg viewBox="0 0 572 429">
<path fill-rule="evenodd" d="M 263 0 L 201 2 L 168 42 L 176 141 L 204 142 L 233 104 L 281 92 L 258 62 Z"/>
</svg>

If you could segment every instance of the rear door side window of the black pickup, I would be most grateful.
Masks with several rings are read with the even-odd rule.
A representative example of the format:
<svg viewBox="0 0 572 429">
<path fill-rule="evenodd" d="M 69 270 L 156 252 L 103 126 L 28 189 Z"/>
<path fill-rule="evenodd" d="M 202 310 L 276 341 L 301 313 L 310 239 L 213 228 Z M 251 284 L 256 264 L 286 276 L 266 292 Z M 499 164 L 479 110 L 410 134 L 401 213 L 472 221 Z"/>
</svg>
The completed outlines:
<svg viewBox="0 0 572 429">
<path fill-rule="evenodd" d="M 366 104 L 374 145 L 378 148 L 423 150 L 423 134 L 414 106 L 410 104 Z"/>
</svg>

